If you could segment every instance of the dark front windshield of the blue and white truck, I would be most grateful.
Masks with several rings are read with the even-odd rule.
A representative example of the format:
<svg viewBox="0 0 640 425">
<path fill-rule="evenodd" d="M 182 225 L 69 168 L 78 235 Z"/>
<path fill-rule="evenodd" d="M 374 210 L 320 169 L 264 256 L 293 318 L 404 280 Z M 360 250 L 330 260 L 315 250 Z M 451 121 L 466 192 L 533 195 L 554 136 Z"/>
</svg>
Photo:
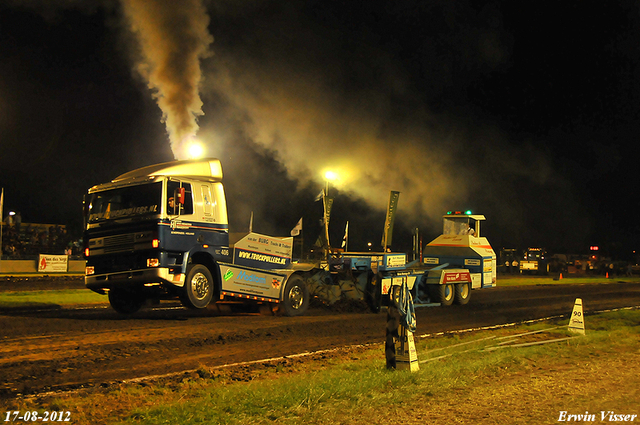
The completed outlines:
<svg viewBox="0 0 640 425">
<path fill-rule="evenodd" d="M 88 196 L 87 222 L 158 214 L 161 200 L 161 182 L 92 193 Z"/>
</svg>

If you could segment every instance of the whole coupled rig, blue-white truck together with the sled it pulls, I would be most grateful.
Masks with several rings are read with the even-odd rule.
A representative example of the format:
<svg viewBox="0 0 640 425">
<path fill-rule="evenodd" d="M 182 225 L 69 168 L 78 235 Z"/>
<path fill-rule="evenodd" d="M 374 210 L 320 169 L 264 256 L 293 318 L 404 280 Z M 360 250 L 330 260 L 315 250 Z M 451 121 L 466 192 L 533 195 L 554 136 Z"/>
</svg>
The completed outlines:
<svg viewBox="0 0 640 425">
<path fill-rule="evenodd" d="M 179 299 L 191 309 L 252 303 L 298 316 L 312 297 L 363 300 L 377 312 L 397 285 L 407 284 L 418 303 L 450 305 L 495 284 L 495 254 L 479 237 L 484 217 L 471 214 L 445 216 L 444 234 L 412 262 L 405 253 L 330 248 L 321 260 L 293 261 L 292 237 L 254 232 L 231 247 L 222 178 L 218 159 L 182 160 L 91 187 L 84 199 L 86 287 L 106 294 L 122 314 Z"/>
</svg>

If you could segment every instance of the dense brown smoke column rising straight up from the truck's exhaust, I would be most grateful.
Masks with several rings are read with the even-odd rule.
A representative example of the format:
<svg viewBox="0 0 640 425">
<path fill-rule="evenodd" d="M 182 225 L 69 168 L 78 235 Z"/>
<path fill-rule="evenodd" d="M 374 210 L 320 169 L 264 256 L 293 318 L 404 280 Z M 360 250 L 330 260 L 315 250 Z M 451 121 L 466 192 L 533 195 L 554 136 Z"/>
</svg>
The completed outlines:
<svg viewBox="0 0 640 425">
<path fill-rule="evenodd" d="M 202 112 L 200 59 L 213 37 L 201 0 L 123 0 L 125 17 L 137 36 L 137 70 L 148 82 L 163 113 L 177 159 L 188 156 L 188 142 L 198 132 Z"/>
</svg>

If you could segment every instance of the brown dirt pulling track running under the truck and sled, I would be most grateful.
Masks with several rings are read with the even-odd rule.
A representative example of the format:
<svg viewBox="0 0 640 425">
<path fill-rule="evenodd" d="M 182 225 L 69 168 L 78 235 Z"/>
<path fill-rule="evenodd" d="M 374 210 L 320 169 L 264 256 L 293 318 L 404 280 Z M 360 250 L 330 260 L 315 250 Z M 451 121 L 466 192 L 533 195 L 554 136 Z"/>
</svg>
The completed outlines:
<svg viewBox="0 0 640 425">
<path fill-rule="evenodd" d="M 604 282 L 604 279 L 603 279 Z M 83 287 L 81 280 L 0 281 L 0 290 Z M 545 285 L 473 291 L 467 306 L 420 308 L 417 335 L 640 305 L 640 283 Z M 175 307 L 175 308 L 173 308 Z M 382 343 L 386 317 L 314 308 L 304 317 L 188 311 L 163 303 L 131 318 L 98 308 L 0 311 L 0 399 L 162 375 L 200 365 Z M 588 328 L 588 321 L 587 321 Z M 381 350 L 381 357 L 384 353 Z"/>
</svg>

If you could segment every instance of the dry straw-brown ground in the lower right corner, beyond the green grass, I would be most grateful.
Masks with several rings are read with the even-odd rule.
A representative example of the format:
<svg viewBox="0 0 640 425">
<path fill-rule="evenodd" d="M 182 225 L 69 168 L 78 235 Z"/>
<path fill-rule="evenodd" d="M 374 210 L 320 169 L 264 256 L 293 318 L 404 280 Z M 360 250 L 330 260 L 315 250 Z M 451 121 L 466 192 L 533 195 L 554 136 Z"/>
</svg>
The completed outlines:
<svg viewBox="0 0 640 425">
<path fill-rule="evenodd" d="M 401 407 L 391 407 L 388 417 L 405 425 L 601 424 L 616 423 L 611 417 L 603 418 L 614 412 L 626 416 L 625 423 L 638 423 L 639 395 L 640 353 L 596 353 L 579 363 L 557 358 L 530 361 L 520 370 L 477 379 L 450 394 L 417 395 Z M 592 416 L 568 419 L 568 415 L 585 414 Z M 365 422 L 352 422 L 360 423 Z M 389 424 L 378 418 L 366 423 Z"/>
</svg>

